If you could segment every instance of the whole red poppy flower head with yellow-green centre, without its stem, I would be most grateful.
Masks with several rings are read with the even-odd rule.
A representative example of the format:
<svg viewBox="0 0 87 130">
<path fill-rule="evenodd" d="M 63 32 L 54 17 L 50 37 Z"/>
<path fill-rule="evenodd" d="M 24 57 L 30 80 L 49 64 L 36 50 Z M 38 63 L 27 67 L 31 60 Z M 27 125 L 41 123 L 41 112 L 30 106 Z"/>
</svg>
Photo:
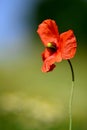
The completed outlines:
<svg viewBox="0 0 87 130">
<path fill-rule="evenodd" d="M 43 72 L 49 72 L 54 69 L 55 62 L 61 62 L 63 59 L 71 59 L 76 53 L 76 38 L 72 30 L 59 34 L 58 27 L 54 20 L 44 20 L 38 27 L 39 34 L 45 48 L 42 53 Z"/>
</svg>

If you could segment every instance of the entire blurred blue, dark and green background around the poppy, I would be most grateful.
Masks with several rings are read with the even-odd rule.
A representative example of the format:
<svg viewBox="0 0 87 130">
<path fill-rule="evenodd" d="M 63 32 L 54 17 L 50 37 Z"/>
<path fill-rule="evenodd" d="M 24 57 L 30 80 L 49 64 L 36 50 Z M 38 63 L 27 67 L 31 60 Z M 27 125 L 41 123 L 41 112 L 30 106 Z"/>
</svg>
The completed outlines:
<svg viewBox="0 0 87 130">
<path fill-rule="evenodd" d="M 73 130 L 87 129 L 87 0 L 1 0 L 0 130 L 68 129 L 69 65 L 41 72 L 44 47 L 36 31 L 48 18 L 60 33 L 76 35 Z"/>
</svg>

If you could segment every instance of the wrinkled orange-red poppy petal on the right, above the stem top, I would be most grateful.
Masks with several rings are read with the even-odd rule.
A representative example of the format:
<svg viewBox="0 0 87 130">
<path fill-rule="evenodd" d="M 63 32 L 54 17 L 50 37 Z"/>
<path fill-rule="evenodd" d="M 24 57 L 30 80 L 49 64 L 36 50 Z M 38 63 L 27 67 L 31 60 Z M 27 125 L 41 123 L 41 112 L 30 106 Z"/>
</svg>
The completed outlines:
<svg viewBox="0 0 87 130">
<path fill-rule="evenodd" d="M 63 59 L 71 59 L 76 53 L 76 38 L 72 30 L 60 34 L 61 53 Z"/>
</svg>

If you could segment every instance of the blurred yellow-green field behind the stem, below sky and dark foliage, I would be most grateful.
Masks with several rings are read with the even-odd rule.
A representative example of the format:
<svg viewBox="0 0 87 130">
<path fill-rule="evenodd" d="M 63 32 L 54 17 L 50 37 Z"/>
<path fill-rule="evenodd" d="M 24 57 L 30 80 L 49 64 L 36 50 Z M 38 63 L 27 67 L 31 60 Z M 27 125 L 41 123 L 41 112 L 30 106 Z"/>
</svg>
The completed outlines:
<svg viewBox="0 0 87 130">
<path fill-rule="evenodd" d="M 36 42 L 36 41 L 34 41 Z M 0 65 L 0 130 L 67 130 L 71 71 L 67 61 L 53 72 L 41 72 L 41 52 Z M 71 60 L 75 72 L 73 130 L 87 129 L 86 46 L 79 44 Z"/>
</svg>

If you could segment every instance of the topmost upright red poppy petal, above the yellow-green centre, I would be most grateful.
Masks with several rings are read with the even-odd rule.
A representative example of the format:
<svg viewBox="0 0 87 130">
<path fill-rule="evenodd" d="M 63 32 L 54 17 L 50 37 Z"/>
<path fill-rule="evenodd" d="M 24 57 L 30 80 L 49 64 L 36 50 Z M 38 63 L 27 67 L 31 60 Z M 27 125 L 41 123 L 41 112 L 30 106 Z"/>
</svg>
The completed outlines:
<svg viewBox="0 0 87 130">
<path fill-rule="evenodd" d="M 54 20 L 44 20 L 38 27 L 37 33 L 39 34 L 45 46 L 49 42 L 55 43 L 58 46 L 59 32 L 58 27 Z"/>
</svg>

